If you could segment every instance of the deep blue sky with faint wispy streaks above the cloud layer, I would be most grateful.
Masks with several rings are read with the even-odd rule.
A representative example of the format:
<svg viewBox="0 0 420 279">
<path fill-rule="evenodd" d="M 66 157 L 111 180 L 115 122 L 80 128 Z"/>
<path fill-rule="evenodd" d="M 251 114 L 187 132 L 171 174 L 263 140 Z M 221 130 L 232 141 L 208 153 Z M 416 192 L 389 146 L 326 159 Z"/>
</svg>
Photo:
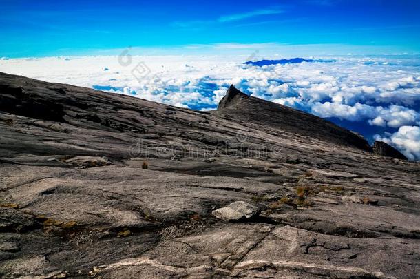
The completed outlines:
<svg viewBox="0 0 420 279">
<path fill-rule="evenodd" d="M 204 52 L 226 43 L 419 53 L 419 13 L 418 0 L 2 0 L 0 56 L 100 54 L 127 46 Z"/>
</svg>

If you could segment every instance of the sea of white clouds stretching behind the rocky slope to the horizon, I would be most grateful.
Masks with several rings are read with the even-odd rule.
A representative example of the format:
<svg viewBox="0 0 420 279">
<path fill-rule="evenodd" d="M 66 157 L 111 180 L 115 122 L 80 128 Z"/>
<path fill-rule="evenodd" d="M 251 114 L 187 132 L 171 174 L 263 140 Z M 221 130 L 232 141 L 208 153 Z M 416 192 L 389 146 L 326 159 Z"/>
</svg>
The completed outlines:
<svg viewBox="0 0 420 279">
<path fill-rule="evenodd" d="M 266 58 L 266 57 L 264 57 Z M 280 59 L 284 57 L 271 57 Z M 305 57 L 306 58 L 306 57 Z M 246 65 L 251 56 L 120 56 L 3 59 L 0 71 L 213 110 L 229 85 L 328 118 L 420 160 L 420 58 L 310 57 Z"/>
</svg>

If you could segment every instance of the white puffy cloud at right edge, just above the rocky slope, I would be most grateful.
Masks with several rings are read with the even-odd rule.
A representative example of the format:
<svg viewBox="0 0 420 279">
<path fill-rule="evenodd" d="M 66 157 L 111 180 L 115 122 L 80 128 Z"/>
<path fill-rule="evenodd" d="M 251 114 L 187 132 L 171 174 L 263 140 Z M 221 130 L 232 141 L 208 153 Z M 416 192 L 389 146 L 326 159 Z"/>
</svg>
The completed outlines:
<svg viewBox="0 0 420 279">
<path fill-rule="evenodd" d="M 390 136 L 376 135 L 375 138 L 397 147 L 410 160 L 420 160 L 420 127 L 418 126 L 402 126 Z"/>
</svg>

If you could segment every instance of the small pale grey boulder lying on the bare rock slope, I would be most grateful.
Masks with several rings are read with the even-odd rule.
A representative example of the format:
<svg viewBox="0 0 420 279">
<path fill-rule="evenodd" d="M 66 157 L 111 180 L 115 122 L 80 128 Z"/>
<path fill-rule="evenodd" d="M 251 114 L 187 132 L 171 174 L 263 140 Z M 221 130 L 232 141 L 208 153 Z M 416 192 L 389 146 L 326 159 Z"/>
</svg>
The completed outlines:
<svg viewBox="0 0 420 279">
<path fill-rule="evenodd" d="M 260 214 L 260 210 L 255 205 L 244 201 L 236 201 L 227 207 L 222 207 L 211 212 L 216 218 L 228 222 L 246 220 Z"/>
</svg>

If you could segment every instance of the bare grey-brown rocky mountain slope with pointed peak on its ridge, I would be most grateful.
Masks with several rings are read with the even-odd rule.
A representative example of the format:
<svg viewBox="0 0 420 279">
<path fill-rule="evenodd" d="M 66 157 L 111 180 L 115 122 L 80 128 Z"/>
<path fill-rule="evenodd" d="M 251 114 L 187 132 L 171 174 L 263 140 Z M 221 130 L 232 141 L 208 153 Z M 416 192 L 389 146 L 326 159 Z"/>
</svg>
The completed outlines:
<svg viewBox="0 0 420 279">
<path fill-rule="evenodd" d="M 234 87 L 195 112 L 0 74 L 0 191 L 1 278 L 420 274 L 420 164 Z"/>
</svg>

